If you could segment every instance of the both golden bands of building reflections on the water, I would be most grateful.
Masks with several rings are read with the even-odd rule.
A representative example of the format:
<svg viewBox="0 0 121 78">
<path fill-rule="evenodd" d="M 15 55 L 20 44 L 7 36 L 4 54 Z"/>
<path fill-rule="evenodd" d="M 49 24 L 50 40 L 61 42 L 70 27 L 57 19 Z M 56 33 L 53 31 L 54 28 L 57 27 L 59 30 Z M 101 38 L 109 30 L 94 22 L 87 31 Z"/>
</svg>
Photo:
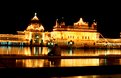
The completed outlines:
<svg viewBox="0 0 121 78">
<path fill-rule="evenodd" d="M 0 55 L 26 55 L 39 56 L 46 55 L 51 49 L 47 47 L 0 47 Z M 120 49 L 62 49 L 62 56 L 99 56 L 121 54 Z M 10 61 L 0 60 L 0 65 Z M 86 59 L 17 59 L 12 60 L 16 67 L 66 67 L 66 66 L 100 66 L 100 65 L 121 65 L 121 59 L 114 58 L 86 58 Z M 12 66 L 12 65 L 10 65 Z"/>
</svg>

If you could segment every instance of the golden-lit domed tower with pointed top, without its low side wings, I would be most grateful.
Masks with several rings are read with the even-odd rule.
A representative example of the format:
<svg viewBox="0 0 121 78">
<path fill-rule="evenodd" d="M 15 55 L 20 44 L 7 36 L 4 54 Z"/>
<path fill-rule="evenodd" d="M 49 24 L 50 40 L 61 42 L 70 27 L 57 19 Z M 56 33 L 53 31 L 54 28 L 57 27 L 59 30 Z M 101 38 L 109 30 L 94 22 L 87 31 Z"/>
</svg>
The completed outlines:
<svg viewBox="0 0 121 78">
<path fill-rule="evenodd" d="M 36 13 L 35 16 L 31 19 L 30 25 L 26 28 L 26 30 L 24 30 L 24 35 L 26 40 L 29 41 L 28 44 L 30 45 L 40 45 L 43 43 L 44 27 L 39 22 Z"/>
</svg>

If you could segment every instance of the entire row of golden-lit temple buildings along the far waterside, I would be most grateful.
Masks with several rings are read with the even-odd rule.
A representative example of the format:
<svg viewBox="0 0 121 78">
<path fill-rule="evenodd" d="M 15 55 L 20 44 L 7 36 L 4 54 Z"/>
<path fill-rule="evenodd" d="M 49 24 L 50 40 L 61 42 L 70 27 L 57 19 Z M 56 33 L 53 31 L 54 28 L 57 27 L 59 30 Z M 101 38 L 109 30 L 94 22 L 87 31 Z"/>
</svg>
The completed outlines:
<svg viewBox="0 0 121 78">
<path fill-rule="evenodd" d="M 117 43 L 118 47 L 121 47 L 121 39 L 100 38 L 96 21 L 89 26 L 88 22 L 80 18 L 72 26 L 66 26 L 64 21 L 57 19 L 53 30 L 45 32 L 37 13 L 24 31 L 17 31 L 17 34 L 0 34 L 0 45 L 52 46 L 58 44 L 62 47 L 77 48 L 114 45 L 110 43 Z"/>
</svg>

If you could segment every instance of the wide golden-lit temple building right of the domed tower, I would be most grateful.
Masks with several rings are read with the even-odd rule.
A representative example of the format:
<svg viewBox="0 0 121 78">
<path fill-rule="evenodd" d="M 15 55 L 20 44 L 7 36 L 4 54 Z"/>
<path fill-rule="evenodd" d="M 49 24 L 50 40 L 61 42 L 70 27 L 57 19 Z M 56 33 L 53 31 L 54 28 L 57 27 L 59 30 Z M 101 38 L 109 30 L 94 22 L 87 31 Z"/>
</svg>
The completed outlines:
<svg viewBox="0 0 121 78">
<path fill-rule="evenodd" d="M 99 33 L 97 32 L 97 23 L 94 21 L 91 26 L 84 22 L 82 18 L 75 22 L 73 26 L 65 26 L 65 23 L 58 23 L 53 27 L 51 32 L 52 40 L 59 45 L 68 45 L 70 41 L 73 46 L 83 47 L 92 46 L 99 40 Z"/>
</svg>

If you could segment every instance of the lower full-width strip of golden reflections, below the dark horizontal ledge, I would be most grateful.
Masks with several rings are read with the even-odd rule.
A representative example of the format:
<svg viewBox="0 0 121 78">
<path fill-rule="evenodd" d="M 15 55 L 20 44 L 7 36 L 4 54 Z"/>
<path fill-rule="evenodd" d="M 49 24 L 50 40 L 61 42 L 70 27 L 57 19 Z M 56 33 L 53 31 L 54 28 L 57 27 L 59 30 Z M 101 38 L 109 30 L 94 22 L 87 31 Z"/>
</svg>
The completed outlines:
<svg viewBox="0 0 121 78">
<path fill-rule="evenodd" d="M 0 67 L 78 67 L 121 65 L 121 59 L 1 59 Z"/>
</svg>

